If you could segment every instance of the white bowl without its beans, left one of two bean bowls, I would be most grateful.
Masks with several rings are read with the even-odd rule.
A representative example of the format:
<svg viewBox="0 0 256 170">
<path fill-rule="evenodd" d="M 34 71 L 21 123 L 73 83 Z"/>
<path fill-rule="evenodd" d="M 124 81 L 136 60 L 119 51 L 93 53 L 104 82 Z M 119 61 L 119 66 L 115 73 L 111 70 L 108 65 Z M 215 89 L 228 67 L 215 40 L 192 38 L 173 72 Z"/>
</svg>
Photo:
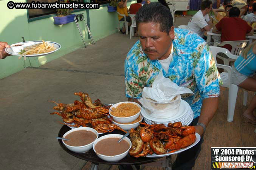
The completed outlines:
<svg viewBox="0 0 256 170">
<path fill-rule="evenodd" d="M 75 147 L 75 146 L 70 146 L 70 145 L 67 145 L 63 140 L 62 142 L 64 143 L 64 145 L 71 151 L 73 152 L 76 152 L 76 153 L 85 153 L 87 152 L 88 150 L 90 150 L 93 146 L 93 143 L 98 139 L 99 137 L 99 134 L 98 132 L 93 129 L 93 128 L 89 128 L 89 127 L 78 127 L 78 128 L 74 128 L 74 129 L 71 129 L 69 131 L 67 131 L 62 138 L 65 138 L 67 136 L 67 134 L 73 132 L 73 131 L 78 131 L 78 130 L 88 130 L 88 131 L 91 131 L 93 133 L 96 134 L 97 138 L 90 144 L 87 144 L 87 145 L 84 145 L 84 146 L 79 146 L 79 147 Z"/>
</svg>

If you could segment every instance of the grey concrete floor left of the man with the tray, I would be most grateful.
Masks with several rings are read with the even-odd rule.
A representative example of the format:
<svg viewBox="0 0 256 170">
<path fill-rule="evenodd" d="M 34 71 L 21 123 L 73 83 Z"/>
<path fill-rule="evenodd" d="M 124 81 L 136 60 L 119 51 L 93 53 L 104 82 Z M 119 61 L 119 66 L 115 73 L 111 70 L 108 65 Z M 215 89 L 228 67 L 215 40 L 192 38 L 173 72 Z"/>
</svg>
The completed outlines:
<svg viewBox="0 0 256 170">
<path fill-rule="evenodd" d="M 189 18 L 176 18 L 175 26 L 186 25 Z M 73 93 L 81 91 L 104 103 L 126 101 L 124 59 L 137 40 L 113 34 L 40 68 L 1 79 L 0 169 L 81 169 L 85 161 L 67 154 L 55 138 L 61 117 L 50 115 L 55 105 L 50 100 L 71 103 L 79 100 Z"/>
</svg>

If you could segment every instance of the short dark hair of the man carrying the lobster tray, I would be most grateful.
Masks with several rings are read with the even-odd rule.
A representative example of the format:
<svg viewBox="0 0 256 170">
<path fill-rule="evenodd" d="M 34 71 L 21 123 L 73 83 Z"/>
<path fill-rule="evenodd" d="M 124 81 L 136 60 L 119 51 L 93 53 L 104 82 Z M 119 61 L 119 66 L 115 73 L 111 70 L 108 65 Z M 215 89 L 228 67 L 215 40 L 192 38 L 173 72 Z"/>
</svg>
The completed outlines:
<svg viewBox="0 0 256 170">
<path fill-rule="evenodd" d="M 160 31 L 169 32 L 172 27 L 171 11 L 159 2 L 151 2 L 143 5 L 135 16 L 136 25 L 140 23 L 155 22 L 160 24 Z"/>
</svg>

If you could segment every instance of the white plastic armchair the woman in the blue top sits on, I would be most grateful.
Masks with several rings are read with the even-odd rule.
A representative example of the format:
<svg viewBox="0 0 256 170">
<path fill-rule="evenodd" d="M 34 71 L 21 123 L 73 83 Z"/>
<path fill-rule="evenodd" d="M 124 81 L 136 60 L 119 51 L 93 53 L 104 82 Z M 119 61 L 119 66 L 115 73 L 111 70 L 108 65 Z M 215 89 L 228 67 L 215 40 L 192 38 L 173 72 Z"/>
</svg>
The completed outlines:
<svg viewBox="0 0 256 170">
<path fill-rule="evenodd" d="M 214 57 L 216 66 L 218 68 L 223 68 L 228 71 L 228 72 L 222 72 L 220 74 L 220 77 L 223 81 L 222 86 L 228 88 L 228 119 L 227 119 L 227 121 L 232 122 L 233 117 L 234 117 L 234 110 L 235 110 L 235 106 L 236 106 L 236 97 L 237 97 L 237 92 L 239 90 L 239 87 L 237 85 L 234 85 L 231 83 L 231 73 L 232 73 L 231 66 L 218 64 L 216 61 L 216 55 L 217 55 L 217 53 L 224 53 L 230 59 L 233 59 L 233 60 L 236 60 L 238 56 L 231 54 L 230 51 L 228 51 L 228 49 L 226 49 L 226 48 L 221 48 L 221 47 L 217 47 L 217 46 L 210 46 L 210 50 L 211 50 L 211 54 Z M 243 104 L 245 104 L 245 105 L 247 102 L 247 94 L 248 94 L 248 92 L 244 93 Z"/>
</svg>

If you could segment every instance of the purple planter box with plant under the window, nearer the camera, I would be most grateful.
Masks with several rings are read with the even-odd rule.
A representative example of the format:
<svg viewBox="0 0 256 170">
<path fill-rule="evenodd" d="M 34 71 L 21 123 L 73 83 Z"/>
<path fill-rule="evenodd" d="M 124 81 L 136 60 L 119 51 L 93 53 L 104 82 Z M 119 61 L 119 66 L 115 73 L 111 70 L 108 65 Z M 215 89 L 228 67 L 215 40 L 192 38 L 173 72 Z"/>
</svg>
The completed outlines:
<svg viewBox="0 0 256 170">
<path fill-rule="evenodd" d="M 64 0 L 62 3 L 69 3 L 69 0 Z M 73 9 L 57 9 L 57 16 L 54 18 L 55 25 L 62 25 L 74 21 L 76 14 L 71 14 Z"/>
</svg>

